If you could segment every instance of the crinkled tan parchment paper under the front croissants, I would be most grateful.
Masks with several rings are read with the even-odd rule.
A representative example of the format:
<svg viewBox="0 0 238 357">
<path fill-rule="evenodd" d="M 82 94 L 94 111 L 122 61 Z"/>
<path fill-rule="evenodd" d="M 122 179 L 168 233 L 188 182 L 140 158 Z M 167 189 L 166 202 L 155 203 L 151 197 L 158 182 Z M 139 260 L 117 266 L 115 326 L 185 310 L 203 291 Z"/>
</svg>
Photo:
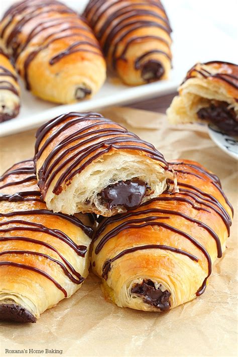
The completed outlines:
<svg viewBox="0 0 238 357">
<path fill-rule="evenodd" d="M 90 273 L 70 299 L 46 311 L 36 324 L 0 323 L 0 355 L 232 356 L 237 353 L 237 162 L 223 153 L 199 125 L 168 126 L 164 115 L 109 108 L 105 116 L 152 142 L 165 158 L 197 160 L 216 173 L 235 209 L 227 250 L 205 293 L 168 313 L 140 312 L 106 302 Z M 34 154 L 35 130 L 2 138 L 1 172 Z M 36 353 L 31 350 L 43 350 Z M 58 349 L 59 353 L 46 353 Z"/>
</svg>

